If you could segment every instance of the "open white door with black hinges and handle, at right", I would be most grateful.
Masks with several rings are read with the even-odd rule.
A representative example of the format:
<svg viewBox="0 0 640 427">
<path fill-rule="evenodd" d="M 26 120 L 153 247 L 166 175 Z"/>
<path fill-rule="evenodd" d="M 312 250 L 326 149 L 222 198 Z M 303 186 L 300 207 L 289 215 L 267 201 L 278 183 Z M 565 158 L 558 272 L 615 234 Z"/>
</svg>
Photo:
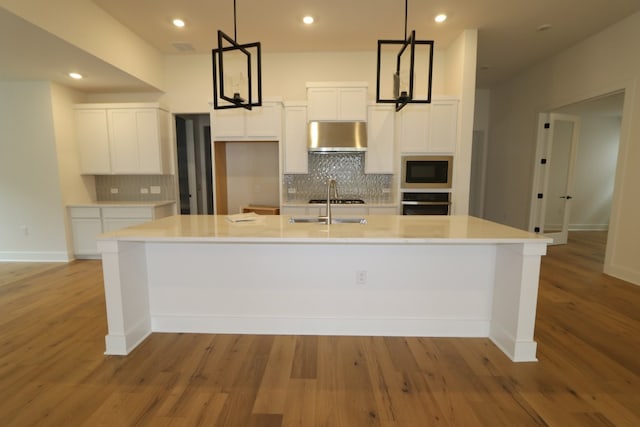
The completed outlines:
<svg viewBox="0 0 640 427">
<path fill-rule="evenodd" d="M 534 185 L 534 199 L 539 203 L 534 209 L 534 229 L 553 238 L 554 245 L 566 244 L 580 119 L 551 113 L 542 128 L 536 158 L 539 185 Z"/>
</svg>

